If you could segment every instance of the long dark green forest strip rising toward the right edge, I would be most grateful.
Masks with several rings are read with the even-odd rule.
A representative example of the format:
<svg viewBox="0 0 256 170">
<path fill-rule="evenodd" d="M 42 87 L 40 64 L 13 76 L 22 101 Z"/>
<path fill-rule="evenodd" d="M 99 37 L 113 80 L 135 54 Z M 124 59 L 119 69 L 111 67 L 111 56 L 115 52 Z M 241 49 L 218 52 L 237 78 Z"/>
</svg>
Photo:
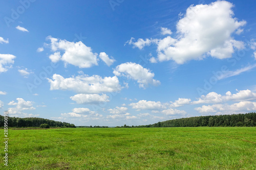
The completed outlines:
<svg viewBox="0 0 256 170">
<path fill-rule="evenodd" d="M 157 128 L 157 127 L 253 127 L 256 126 L 256 113 L 197 116 L 166 120 L 153 125 L 122 126 L 122 128 Z"/>
</svg>

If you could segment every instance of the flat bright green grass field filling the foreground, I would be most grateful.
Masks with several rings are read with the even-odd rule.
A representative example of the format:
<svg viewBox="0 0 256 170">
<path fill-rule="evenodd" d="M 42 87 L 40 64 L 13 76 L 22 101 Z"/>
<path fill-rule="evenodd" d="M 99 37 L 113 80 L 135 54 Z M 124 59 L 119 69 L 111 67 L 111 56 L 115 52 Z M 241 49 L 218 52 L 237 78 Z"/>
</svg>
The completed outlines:
<svg viewBox="0 0 256 170">
<path fill-rule="evenodd" d="M 256 169 L 256 128 L 9 129 L 8 155 L 0 169 Z"/>
</svg>

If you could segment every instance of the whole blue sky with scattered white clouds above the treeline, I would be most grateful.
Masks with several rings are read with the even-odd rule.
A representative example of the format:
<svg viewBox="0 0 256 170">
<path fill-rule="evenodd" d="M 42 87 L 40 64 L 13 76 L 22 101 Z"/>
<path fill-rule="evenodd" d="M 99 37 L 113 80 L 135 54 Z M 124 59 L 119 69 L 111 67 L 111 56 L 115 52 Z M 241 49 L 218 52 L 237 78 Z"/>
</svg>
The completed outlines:
<svg viewBox="0 0 256 170">
<path fill-rule="evenodd" d="M 256 110 L 252 1 L 2 1 L 0 110 L 84 126 Z"/>
</svg>

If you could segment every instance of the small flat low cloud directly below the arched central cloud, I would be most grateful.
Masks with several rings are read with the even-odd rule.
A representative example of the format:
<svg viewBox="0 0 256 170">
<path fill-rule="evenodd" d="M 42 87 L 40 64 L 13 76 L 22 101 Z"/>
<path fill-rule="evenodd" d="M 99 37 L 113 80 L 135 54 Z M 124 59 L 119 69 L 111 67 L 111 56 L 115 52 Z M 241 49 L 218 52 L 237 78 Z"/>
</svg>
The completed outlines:
<svg viewBox="0 0 256 170">
<path fill-rule="evenodd" d="M 145 101 L 141 100 L 137 103 L 131 103 L 133 109 L 137 110 L 162 110 L 166 109 L 168 104 L 162 104 L 161 102 Z"/>
</svg>

